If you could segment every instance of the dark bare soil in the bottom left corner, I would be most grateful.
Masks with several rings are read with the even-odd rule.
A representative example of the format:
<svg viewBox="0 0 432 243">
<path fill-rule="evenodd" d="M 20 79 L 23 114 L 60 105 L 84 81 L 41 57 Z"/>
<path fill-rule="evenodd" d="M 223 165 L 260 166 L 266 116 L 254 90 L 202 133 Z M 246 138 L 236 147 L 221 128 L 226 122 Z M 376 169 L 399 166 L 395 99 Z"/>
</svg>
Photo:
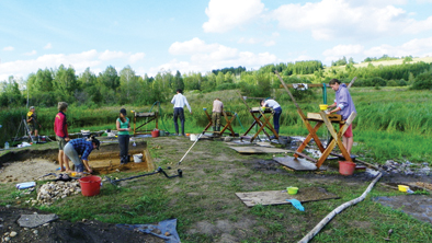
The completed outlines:
<svg viewBox="0 0 432 243">
<path fill-rule="evenodd" d="M 0 207 L 1 242 L 9 238 L 9 242 L 164 242 L 151 234 L 129 231 L 117 228 L 115 224 L 103 223 L 95 220 L 71 223 L 66 220 L 56 220 L 33 229 L 21 228 L 16 222 L 21 215 L 46 213 L 38 210 Z M 8 232 L 8 235 L 5 233 Z M 15 232 L 12 233 L 11 232 Z"/>
</svg>

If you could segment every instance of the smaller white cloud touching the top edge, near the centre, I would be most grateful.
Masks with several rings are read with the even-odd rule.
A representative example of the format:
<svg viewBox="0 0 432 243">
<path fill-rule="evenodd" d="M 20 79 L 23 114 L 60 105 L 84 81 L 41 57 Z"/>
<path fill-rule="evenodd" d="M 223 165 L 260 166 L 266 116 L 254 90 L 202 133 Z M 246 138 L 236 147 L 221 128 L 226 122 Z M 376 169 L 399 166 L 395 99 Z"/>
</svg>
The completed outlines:
<svg viewBox="0 0 432 243">
<path fill-rule="evenodd" d="M 206 33 L 224 33 L 253 21 L 264 10 L 261 0 L 211 0 L 203 24 Z"/>
</svg>

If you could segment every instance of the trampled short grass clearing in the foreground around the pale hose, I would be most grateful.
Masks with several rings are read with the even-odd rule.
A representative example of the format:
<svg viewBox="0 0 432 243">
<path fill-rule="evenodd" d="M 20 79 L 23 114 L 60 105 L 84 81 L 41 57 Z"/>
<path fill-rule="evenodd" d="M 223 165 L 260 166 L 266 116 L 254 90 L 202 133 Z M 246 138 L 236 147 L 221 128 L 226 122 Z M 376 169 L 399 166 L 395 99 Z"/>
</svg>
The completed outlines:
<svg viewBox="0 0 432 243">
<path fill-rule="evenodd" d="M 111 223 L 151 223 L 178 219 L 182 242 L 296 242 L 339 205 L 359 197 L 372 181 L 360 174 L 341 176 L 334 171 L 295 173 L 270 163 L 271 154 L 241 155 L 221 141 L 196 143 L 180 166 L 177 162 L 190 148 L 187 138 L 146 139 L 157 166 L 180 167 L 183 177 L 162 175 L 125 181 L 120 187 L 104 182 L 95 197 L 73 196 L 43 210 L 62 219 L 96 219 Z M 115 173 L 113 177 L 135 174 Z M 41 185 L 43 182 L 38 182 Z M 304 204 L 305 211 L 291 205 L 246 207 L 239 192 L 278 190 L 320 186 L 340 199 Z M 391 242 L 431 242 L 432 227 L 372 200 L 376 196 L 401 195 L 377 184 L 366 199 L 338 215 L 312 242 L 382 242 L 393 230 Z M 35 195 L 20 195 L 13 184 L 0 188 L 0 205 L 18 205 Z"/>
</svg>

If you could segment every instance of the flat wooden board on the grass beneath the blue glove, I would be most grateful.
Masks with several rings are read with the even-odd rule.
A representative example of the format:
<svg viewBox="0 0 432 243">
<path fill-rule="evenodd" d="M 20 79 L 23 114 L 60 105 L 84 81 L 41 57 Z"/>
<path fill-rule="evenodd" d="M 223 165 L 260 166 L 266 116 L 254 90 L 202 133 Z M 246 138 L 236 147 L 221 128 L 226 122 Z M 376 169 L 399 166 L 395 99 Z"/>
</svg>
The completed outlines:
<svg viewBox="0 0 432 243">
<path fill-rule="evenodd" d="M 236 196 L 247 206 L 255 205 L 288 205 L 286 199 L 297 199 L 300 202 L 337 199 L 338 195 L 327 192 L 322 187 L 299 188 L 296 195 L 289 195 L 284 190 L 236 193 Z"/>
</svg>

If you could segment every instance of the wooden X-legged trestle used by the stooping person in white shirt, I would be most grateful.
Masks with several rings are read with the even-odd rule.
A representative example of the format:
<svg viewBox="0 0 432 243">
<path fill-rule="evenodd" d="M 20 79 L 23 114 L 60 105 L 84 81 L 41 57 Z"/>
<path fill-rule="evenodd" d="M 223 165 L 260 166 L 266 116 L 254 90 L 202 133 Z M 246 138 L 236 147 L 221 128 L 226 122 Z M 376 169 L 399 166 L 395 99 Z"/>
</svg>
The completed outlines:
<svg viewBox="0 0 432 243">
<path fill-rule="evenodd" d="M 252 107 L 249 111 L 249 113 L 252 115 L 254 121 L 249 127 L 249 129 L 245 132 L 245 135 L 241 136 L 241 140 L 243 138 L 249 138 L 247 135 L 249 134 L 249 131 L 252 130 L 253 126 L 255 126 L 255 125 L 260 126 L 260 128 L 258 129 L 255 135 L 253 135 L 253 137 L 250 139 L 250 142 L 255 140 L 255 138 L 258 137 L 258 135 L 261 131 L 264 131 L 265 136 L 268 136 L 268 138 L 270 140 L 270 135 L 264 130 L 265 127 L 269 128 L 273 132 L 273 135 L 276 139 L 278 139 L 278 135 L 277 135 L 276 130 L 273 128 L 272 124 L 270 123 L 270 119 L 273 117 L 273 111 L 271 108 L 265 108 L 264 111 L 261 111 L 261 107 Z M 258 114 L 259 114 L 259 116 L 257 117 Z M 263 119 L 263 121 L 261 119 Z"/>
</svg>

